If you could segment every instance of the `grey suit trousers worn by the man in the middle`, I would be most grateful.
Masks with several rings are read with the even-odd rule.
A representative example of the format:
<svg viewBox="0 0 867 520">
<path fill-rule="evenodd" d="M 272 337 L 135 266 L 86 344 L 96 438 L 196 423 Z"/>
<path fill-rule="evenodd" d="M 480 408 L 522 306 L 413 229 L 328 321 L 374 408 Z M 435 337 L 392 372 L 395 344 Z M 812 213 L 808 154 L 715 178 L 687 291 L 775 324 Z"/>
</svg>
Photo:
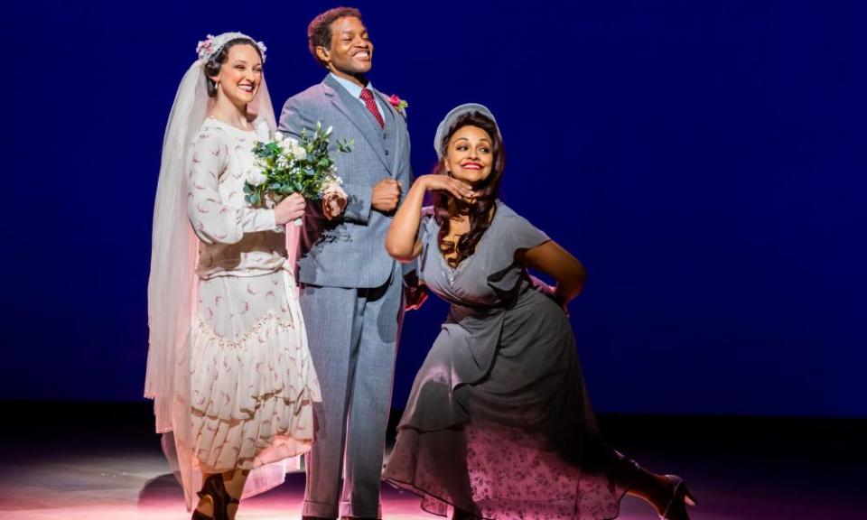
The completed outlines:
<svg viewBox="0 0 867 520">
<path fill-rule="evenodd" d="M 402 289 L 399 264 L 375 289 L 302 286 L 301 307 L 322 386 L 316 438 L 304 456 L 302 515 L 382 517 L 379 486 Z"/>
</svg>

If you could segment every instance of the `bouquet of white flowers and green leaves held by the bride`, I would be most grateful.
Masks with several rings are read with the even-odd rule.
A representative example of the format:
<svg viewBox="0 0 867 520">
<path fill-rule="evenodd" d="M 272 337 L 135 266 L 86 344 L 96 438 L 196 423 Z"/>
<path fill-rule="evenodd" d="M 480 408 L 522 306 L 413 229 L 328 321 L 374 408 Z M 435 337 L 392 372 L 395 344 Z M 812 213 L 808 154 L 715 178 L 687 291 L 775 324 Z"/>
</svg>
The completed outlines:
<svg viewBox="0 0 867 520">
<path fill-rule="evenodd" d="M 253 154 L 260 171 L 247 177 L 244 185 L 247 203 L 264 205 L 266 198 L 277 203 L 296 192 L 304 199 L 321 200 L 327 191 L 340 186 L 337 166 L 328 153 L 331 129 L 329 126 L 323 131 L 322 124 L 317 122 L 312 135 L 306 129 L 302 131 L 301 141 L 276 132 L 272 141 L 256 142 Z M 354 141 L 340 139 L 337 148 L 350 153 L 353 145 Z M 294 224 L 301 226 L 301 219 Z"/>
</svg>

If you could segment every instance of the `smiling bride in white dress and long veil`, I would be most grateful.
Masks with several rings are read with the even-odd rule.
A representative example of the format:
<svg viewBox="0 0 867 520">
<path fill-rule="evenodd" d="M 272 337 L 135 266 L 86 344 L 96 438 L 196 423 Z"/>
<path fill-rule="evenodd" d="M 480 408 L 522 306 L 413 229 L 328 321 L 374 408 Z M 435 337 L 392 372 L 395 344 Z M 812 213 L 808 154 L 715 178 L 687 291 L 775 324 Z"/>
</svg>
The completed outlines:
<svg viewBox="0 0 867 520">
<path fill-rule="evenodd" d="M 321 397 L 286 249 L 298 234 L 284 226 L 304 199 L 244 199 L 253 144 L 275 128 L 265 46 L 227 32 L 198 51 L 163 142 L 145 395 L 187 508 L 199 490 L 192 517 L 210 520 L 283 481 L 286 459 L 311 447 Z M 330 202 L 326 215 L 345 197 Z"/>
</svg>

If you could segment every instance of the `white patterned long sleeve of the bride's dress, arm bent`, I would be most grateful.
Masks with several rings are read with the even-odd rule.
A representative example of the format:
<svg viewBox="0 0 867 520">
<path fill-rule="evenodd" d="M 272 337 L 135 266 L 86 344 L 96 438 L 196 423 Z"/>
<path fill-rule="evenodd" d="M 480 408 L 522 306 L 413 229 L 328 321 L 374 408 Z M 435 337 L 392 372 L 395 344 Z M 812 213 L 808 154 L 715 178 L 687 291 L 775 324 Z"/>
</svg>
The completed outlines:
<svg viewBox="0 0 867 520">
<path fill-rule="evenodd" d="M 274 210 L 228 206 L 219 196 L 219 179 L 228 175 L 227 137 L 219 130 L 203 130 L 192 144 L 187 216 L 206 244 L 236 244 L 245 233 L 276 228 Z M 232 194 L 243 198 L 242 192 Z"/>
</svg>

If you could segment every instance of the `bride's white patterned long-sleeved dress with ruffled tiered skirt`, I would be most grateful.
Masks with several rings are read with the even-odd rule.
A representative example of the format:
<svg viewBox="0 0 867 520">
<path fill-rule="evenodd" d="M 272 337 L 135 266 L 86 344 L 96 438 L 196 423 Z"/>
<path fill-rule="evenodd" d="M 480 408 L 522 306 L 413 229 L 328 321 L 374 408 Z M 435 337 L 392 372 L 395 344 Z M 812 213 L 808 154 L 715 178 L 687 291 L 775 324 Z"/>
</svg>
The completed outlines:
<svg viewBox="0 0 867 520">
<path fill-rule="evenodd" d="M 255 469 L 307 450 L 321 401 L 283 229 L 244 200 L 256 139 L 209 118 L 193 143 L 188 215 L 200 238 L 190 334 L 191 439 L 209 471 Z"/>
</svg>

